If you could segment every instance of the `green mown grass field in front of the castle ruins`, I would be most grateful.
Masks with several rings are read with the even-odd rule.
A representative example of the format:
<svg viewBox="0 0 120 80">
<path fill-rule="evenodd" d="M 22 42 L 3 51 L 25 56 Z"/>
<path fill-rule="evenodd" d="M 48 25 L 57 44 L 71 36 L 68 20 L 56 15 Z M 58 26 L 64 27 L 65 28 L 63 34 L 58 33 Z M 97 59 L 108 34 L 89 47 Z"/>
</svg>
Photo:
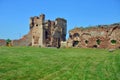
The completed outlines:
<svg viewBox="0 0 120 80">
<path fill-rule="evenodd" d="M 0 47 L 0 80 L 120 80 L 120 50 Z"/>
</svg>

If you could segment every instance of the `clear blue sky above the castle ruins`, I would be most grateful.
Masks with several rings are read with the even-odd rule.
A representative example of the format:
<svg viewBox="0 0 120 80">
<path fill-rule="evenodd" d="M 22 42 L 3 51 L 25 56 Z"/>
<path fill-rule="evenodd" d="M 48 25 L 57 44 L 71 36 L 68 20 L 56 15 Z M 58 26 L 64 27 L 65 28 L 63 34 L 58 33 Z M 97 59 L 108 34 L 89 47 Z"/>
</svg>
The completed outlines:
<svg viewBox="0 0 120 80">
<path fill-rule="evenodd" d="M 29 18 L 67 19 L 75 26 L 120 22 L 120 0 L 0 0 L 0 39 L 19 39 L 29 32 Z M 68 34 L 67 34 L 68 37 Z"/>
</svg>

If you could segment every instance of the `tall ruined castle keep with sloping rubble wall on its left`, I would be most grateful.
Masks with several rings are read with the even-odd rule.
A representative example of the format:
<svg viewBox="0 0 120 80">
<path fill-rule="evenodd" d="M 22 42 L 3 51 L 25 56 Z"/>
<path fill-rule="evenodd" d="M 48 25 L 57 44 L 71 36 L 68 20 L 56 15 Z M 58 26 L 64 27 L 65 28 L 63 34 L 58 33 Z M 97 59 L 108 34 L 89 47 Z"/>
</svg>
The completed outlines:
<svg viewBox="0 0 120 80">
<path fill-rule="evenodd" d="M 13 40 L 13 46 L 60 47 L 66 41 L 67 21 L 57 18 L 45 20 L 45 15 L 30 18 L 30 32 L 19 40 Z"/>
</svg>

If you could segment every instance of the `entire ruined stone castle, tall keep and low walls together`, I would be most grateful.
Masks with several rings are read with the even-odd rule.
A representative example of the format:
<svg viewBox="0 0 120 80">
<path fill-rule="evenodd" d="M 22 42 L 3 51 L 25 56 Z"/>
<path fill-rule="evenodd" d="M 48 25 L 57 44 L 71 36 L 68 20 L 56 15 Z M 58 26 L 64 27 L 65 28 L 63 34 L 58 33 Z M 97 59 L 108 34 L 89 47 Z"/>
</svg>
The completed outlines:
<svg viewBox="0 0 120 80">
<path fill-rule="evenodd" d="M 63 18 L 57 18 L 55 21 L 45 20 L 45 15 L 41 14 L 31 17 L 29 26 L 27 35 L 12 40 L 13 46 L 120 49 L 120 23 L 74 28 L 69 31 L 67 41 L 67 21 Z M 6 41 L 0 39 L 0 46 L 5 45 Z"/>
</svg>

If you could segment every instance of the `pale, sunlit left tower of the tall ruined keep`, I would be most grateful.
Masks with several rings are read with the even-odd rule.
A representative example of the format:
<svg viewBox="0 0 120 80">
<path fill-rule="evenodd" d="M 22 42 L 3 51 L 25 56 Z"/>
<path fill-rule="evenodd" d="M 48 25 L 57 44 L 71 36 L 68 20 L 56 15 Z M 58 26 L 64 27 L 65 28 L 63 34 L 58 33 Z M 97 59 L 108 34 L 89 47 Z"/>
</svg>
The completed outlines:
<svg viewBox="0 0 120 80">
<path fill-rule="evenodd" d="M 44 46 L 44 20 L 45 15 L 30 18 L 30 31 L 32 33 L 32 46 Z"/>
</svg>

